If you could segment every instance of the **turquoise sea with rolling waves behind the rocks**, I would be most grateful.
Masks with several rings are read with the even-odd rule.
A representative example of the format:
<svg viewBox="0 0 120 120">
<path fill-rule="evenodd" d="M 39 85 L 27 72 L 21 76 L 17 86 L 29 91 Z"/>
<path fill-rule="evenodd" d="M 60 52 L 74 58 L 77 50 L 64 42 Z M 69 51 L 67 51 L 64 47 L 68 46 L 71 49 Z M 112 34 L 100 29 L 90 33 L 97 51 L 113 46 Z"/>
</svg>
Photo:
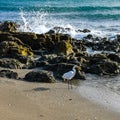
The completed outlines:
<svg viewBox="0 0 120 120">
<path fill-rule="evenodd" d="M 62 26 L 114 34 L 120 30 L 120 1 L 0 0 L 0 21 L 5 20 L 23 23 L 23 31 L 29 31 L 27 24 L 37 33 Z"/>
</svg>

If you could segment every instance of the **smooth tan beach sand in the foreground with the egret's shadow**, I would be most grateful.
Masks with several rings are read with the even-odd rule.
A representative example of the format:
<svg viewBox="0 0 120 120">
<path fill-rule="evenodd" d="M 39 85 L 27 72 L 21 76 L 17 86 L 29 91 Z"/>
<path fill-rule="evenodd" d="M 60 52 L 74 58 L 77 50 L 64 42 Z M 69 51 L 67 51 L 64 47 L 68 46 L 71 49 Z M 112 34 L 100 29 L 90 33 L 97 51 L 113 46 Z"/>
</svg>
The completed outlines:
<svg viewBox="0 0 120 120">
<path fill-rule="evenodd" d="M 24 76 L 27 70 L 18 70 Z M 21 77 L 20 76 L 20 77 Z M 63 83 L 0 78 L 0 120 L 120 120 L 120 115 L 81 97 Z"/>
</svg>

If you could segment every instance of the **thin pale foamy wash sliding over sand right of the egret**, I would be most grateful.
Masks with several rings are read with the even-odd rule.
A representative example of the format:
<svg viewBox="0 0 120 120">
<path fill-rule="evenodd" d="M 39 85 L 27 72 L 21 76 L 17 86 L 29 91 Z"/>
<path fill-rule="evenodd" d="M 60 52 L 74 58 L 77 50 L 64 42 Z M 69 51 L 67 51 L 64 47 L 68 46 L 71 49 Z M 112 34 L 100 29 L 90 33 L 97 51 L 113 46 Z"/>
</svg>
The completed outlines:
<svg viewBox="0 0 120 120">
<path fill-rule="evenodd" d="M 89 76 L 90 77 L 90 76 Z M 118 79 L 120 85 L 120 79 Z M 103 105 L 106 109 L 115 111 L 120 113 L 120 91 L 116 92 L 115 89 L 119 88 L 120 86 L 115 82 L 116 85 L 109 83 L 113 83 L 112 79 L 100 79 L 97 77 L 94 79 L 93 77 L 91 80 L 86 80 L 81 83 L 80 87 L 78 88 L 79 93 L 86 97 L 87 99 L 95 102 L 97 104 Z"/>
</svg>

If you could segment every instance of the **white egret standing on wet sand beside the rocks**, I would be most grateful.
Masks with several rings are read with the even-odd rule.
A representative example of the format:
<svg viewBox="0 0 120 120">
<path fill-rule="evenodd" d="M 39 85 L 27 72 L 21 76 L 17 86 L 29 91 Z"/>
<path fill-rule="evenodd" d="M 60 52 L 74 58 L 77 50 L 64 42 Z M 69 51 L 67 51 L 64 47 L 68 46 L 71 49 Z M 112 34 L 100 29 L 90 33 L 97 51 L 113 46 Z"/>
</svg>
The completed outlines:
<svg viewBox="0 0 120 120">
<path fill-rule="evenodd" d="M 69 89 L 69 84 L 71 84 L 71 89 L 72 89 L 71 80 L 76 74 L 76 69 L 75 68 L 78 68 L 80 70 L 80 67 L 78 67 L 77 65 L 74 65 L 71 71 L 64 73 L 63 76 L 62 76 L 64 81 L 67 80 L 67 82 L 68 82 L 68 89 Z"/>
</svg>

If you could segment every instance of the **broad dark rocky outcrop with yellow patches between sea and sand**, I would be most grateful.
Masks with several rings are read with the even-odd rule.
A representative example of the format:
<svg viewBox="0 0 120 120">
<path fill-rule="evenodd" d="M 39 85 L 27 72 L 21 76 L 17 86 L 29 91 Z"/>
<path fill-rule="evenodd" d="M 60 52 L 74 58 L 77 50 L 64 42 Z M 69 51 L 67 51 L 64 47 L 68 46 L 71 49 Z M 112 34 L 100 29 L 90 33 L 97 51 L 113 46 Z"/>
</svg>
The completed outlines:
<svg viewBox="0 0 120 120">
<path fill-rule="evenodd" d="M 74 65 L 81 67 L 75 79 L 85 79 L 85 73 L 120 74 L 120 35 L 110 40 L 108 37 L 91 35 L 90 30 L 84 29 L 76 32 L 88 33 L 87 36 L 77 40 L 61 33 L 70 31 L 70 28 L 54 27 L 47 33 L 35 34 L 16 31 L 16 27 L 12 22 L 0 24 L 1 67 L 40 67 L 52 71 L 60 79 Z"/>
</svg>

